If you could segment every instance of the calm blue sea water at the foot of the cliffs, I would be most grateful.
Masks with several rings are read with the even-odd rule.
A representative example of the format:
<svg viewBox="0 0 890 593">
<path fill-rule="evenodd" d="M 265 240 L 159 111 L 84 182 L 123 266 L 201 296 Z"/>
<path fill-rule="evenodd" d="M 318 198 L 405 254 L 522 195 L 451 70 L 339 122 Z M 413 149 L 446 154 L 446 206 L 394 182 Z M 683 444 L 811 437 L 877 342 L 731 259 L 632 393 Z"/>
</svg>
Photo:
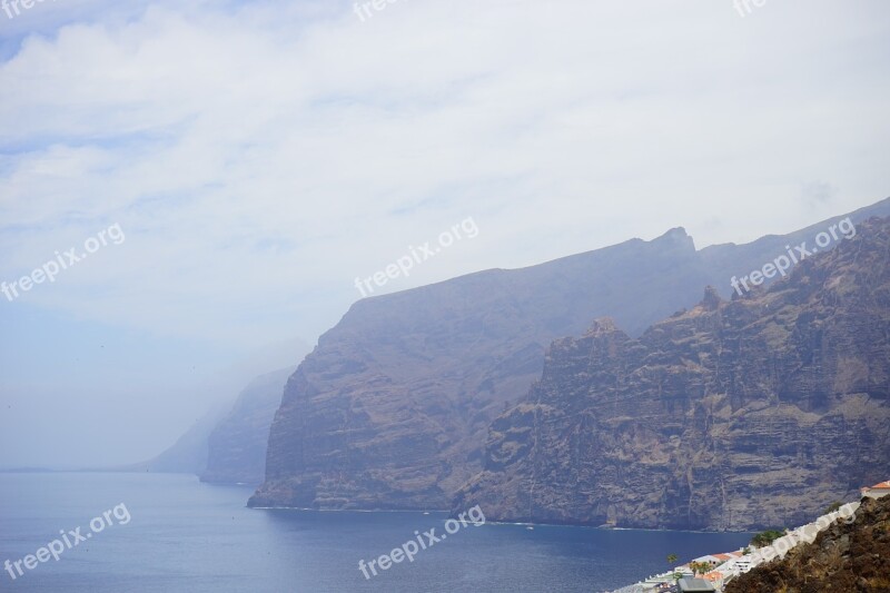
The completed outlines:
<svg viewBox="0 0 890 593">
<path fill-rule="evenodd" d="M 3 570 L 0 592 L 591 593 L 664 572 L 670 553 L 690 560 L 751 537 L 469 524 L 366 580 L 359 560 L 415 531 L 441 535 L 446 515 L 250 510 L 250 494 L 181 475 L 0 474 L 0 563 L 34 554 L 60 531 L 86 534 L 120 504 L 130 516 L 120 524 L 109 514 L 110 526 L 14 581 Z"/>
</svg>

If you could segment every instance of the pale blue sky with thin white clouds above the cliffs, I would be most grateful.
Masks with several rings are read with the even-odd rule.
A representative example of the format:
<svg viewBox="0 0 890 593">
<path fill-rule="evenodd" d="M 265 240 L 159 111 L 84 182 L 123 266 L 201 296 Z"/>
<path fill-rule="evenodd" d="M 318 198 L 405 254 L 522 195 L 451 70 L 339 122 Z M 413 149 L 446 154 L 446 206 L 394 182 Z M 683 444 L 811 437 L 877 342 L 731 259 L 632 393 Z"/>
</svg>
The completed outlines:
<svg viewBox="0 0 890 593">
<path fill-rule="evenodd" d="M 427 241 L 373 294 L 890 196 L 884 0 L 17 6 L 0 467 L 158 454 Z"/>
</svg>

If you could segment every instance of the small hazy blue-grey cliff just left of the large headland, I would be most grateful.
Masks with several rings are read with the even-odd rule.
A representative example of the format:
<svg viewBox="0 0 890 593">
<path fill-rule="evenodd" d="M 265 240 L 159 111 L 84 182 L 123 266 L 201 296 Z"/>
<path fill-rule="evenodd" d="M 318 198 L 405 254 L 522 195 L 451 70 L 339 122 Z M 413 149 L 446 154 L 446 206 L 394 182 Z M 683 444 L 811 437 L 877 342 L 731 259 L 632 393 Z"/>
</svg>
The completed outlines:
<svg viewBox="0 0 890 593">
<path fill-rule="evenodd" d="M 238 395 L 229 413 L 206 437 L 201 482 L 251 486 L 263 483 L 269 426 L 294 370 L 290 367 L 259 376 Z"/>
</svg>

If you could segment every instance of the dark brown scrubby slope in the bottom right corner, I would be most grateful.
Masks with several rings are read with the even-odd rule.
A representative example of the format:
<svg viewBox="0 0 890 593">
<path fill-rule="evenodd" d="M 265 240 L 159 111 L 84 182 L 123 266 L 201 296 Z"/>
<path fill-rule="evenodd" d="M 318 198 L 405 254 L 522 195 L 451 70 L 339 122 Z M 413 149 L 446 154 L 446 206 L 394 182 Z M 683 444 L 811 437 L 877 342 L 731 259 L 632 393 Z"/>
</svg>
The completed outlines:
<svg viewBox="0 0 890 593">
<path fill-rule="evenodd" d="M 890 591 L 890 496 L 867 498 L 856 521 L 839 521 L 811 544 L 731 581 L 726 593 Z"/>
</svg>

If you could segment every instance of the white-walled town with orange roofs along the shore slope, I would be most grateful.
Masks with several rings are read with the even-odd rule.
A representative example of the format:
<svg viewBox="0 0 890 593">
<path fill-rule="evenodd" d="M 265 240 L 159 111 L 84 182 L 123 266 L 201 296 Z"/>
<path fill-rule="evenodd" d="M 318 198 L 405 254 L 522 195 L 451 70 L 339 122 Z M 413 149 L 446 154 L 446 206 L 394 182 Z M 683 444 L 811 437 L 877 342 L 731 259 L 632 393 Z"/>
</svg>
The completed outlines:
<svg viewBox="0 0 890 593">
<path fill-rule="evenodd" d="M 890 480 L 870 487 L 861 488 L 862 498 L 881 498 L 890 494 Z M 741 548 L 733 552 L 708 554 L 694 559 L 662 574 L 652 575 L 644 581 L 613 591 L 612 593 L 652 593 L 652 592 L 722 592 L 723 587 L 740 574 L 770 562 L 784 557 L 789 550 L 801 543 L 811 543 L 819 533 L 835 521 L 852 521 L 860 503 L 848 503 L 835 511 L 820 516 L 812 523 L 789 530 L 763 547 Z"/>
</svg>

